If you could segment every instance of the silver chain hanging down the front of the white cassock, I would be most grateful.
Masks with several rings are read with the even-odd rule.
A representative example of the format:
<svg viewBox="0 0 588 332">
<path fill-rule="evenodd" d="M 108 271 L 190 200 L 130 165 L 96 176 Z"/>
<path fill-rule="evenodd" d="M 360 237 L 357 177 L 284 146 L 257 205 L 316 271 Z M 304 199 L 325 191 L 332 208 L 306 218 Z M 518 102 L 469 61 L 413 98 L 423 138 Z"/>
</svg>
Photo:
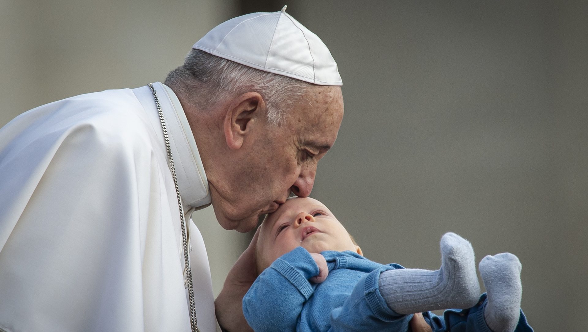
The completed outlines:
<svg viewBox="0 0 588 332">
<path fill-rule="evenodd" d="M 186 274 L 188 279 L 188 297 L 190 300 L 190 323 L 192 326 L 192 332 L 198 332 L 198 324 L 196 324 L 196 301 L 194 300 L 194 288 L 192 284 L 192 270 L 190 268 L 190 261 L 188 258 L 188 235 L 186 235 L 186 225 L 183 215 L 182 198 L 180 197 L 180 190 L 178 187 L 178 177 L 176 176 L 176 168 L 173 165 L 172 148 L 169 145 L 168 128 L 165 126 L 165 119 L 163 118 L 163 112 L 161 111 L 161 105 L 159 105 L 159 99 L 155 93 L 153 84 L 149 83 L 149 88 L 153 92 L 153 98 L 155 99 L 155 105 L 159 114 L 159 122 L 161 122 L 161 128 L 163 130 L 163 140 L 165 140 L 165 150 L 168 151 L 169 169 L 172 171 L 173 184 L 176 186 L 176 196 L 178 197 L 178 206 L 180 208 L 180 221 L 182 223 L 182 242 L 184 252 L 184 264 L 186 268 Z"/>
</svg>

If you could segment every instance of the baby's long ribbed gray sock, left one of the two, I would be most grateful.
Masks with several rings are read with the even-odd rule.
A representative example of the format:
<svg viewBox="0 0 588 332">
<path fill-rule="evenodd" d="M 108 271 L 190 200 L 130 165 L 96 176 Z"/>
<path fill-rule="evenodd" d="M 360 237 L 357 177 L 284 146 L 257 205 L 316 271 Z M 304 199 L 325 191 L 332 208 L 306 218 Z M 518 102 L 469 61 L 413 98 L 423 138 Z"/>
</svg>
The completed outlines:
<svg viewBox="0 0 588 332">
<path fill-rule="evenodd" d="M 472 245 L 455 233 L 441 238 L 441 268 L 413 268 L 380 274 L 380 294 L 390 309 L 399 314 L 469 308 L 480 296 Z"/>
</svg>

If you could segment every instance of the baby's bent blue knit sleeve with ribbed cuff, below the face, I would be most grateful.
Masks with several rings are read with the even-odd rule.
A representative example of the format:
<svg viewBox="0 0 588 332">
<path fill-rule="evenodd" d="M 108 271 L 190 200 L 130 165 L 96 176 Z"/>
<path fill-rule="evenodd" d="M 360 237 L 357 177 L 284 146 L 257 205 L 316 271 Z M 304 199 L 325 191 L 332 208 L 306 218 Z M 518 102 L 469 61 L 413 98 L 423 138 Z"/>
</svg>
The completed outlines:
<svg viewBox="0 0 588 332">
<path fill-rule="evenodd" d="M 315 260 L 302 247 L 278 258 L 243 297 L 249 326 L 256 332 L 295 331 L 302 305 L 314 291 L 308 279 L 318 274 Z"/>
</svg>

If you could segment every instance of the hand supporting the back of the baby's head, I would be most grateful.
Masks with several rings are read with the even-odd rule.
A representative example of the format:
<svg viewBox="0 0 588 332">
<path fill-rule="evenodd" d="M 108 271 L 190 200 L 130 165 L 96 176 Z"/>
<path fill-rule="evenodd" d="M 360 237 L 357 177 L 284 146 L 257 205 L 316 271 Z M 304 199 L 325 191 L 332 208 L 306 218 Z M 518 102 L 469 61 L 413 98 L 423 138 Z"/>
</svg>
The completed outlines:
<svg viewBox="0 0 588 332">
<path fill-rule="evenodd" d="M 257 277 L 255 270 L 255 244 L 259 228 L 249 247 L 243 251 L 226 276 L 225 284 L 215 300 L 216 319 L 225 331 L 253 331 L 243 316 L 243 296 Z"/>
</svg>

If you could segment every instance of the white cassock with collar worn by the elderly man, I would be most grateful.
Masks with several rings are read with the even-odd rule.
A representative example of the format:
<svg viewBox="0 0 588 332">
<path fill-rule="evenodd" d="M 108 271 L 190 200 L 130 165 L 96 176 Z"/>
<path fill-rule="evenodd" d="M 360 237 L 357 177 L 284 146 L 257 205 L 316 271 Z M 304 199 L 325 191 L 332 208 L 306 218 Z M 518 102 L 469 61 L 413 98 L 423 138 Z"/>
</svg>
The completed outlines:
<svg viewBox="0 0 588 332">
<path fill-rule="evenodd" d="M 185 211 L 208 205 L 181 104 L 154 86 Z M 0 130 L 0 331 L 191 330 L 167 159 L 147 86 L 52 102 Z M 189 224 L 198 327 L 215 331 L 208 257 Z"/>
</svg>

